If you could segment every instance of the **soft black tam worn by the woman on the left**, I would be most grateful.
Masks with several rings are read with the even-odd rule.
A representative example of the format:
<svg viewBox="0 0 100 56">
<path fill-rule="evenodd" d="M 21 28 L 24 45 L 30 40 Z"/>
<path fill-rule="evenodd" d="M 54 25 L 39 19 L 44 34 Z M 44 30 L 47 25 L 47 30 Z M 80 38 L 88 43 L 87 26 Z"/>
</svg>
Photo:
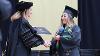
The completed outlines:
<svg viewBox="0 0 100 56">
<path fill-rule="evenodd" d="M 25 9 L 29 9 L 31 6 L 33 6 L 32 2 L 25 2 L 21 1 L 16 4 L 16 11 L 25 11 Z"/>
</svg>

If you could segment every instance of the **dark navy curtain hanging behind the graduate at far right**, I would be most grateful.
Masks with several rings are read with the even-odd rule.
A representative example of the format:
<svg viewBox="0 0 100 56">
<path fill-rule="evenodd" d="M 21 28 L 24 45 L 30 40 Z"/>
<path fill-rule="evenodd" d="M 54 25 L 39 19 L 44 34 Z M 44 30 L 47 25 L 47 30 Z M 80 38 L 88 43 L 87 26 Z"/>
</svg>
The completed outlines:
<svg viewBox="0 0 100 56">
<path fill-rule="evenodd" d="M 78 0 L 81 48 L 100 49 L 100 0 Z"/>
</svg>

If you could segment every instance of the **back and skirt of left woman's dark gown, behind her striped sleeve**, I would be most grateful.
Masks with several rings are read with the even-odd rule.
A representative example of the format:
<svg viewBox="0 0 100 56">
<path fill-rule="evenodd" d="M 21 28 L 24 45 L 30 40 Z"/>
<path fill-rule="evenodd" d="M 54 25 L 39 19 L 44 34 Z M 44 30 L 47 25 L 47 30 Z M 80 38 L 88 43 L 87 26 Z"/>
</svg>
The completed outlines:
<svg viewBox="0 0 100 56">
<path fill-rule="evenodd" d="M 20 19 L 18 19 L 10 24 L 6 56 L 30 56 L 31 48 L 25 47 L 19 36 L 20 23 Z"/>
</svg>

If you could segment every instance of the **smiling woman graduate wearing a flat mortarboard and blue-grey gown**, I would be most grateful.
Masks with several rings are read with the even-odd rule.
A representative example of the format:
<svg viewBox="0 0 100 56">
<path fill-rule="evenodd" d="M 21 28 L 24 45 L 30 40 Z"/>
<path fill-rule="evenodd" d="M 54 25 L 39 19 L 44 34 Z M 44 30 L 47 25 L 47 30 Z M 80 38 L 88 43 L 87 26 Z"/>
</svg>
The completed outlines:
<svg viewBox="0 0 100 56">
<path fill-rule="evenodd" d="M 56 53 L 59 56 L 80 56 L 81 32 L 79 26 L 73 21 L 74 17 L 77 17 L 77 11 L 66 6 L 61 16 L 61 26 L 51 41 L 51 56 L 55 56 Z"/>
</svg>

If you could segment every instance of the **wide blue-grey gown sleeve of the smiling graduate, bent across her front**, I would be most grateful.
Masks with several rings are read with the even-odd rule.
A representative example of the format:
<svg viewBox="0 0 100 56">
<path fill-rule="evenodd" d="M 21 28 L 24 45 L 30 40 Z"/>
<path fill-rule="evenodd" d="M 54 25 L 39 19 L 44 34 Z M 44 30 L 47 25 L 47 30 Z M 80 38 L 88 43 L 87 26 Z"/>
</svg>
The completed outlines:
<svg viewBox="0 0 100 56">
<path fill-rule="evenodd" d="M 80 45 L 81 41 L 81 32 L 78 26 L 74 26 L 71 31 L 68 31 L 66 36 L 61 36 L 61 43 L 68 44 L 71 46 Z"/>
</svg>

